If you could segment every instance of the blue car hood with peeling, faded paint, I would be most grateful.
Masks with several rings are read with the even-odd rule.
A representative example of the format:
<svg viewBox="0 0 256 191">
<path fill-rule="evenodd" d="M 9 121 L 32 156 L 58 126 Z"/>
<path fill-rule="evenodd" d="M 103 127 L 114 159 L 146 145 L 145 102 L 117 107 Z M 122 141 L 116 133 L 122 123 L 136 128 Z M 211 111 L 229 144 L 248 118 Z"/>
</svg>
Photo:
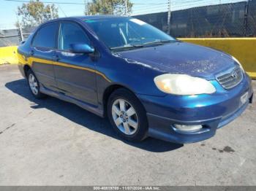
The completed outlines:
<svg viewBox="0 0 256 191">
<path fill-rule="evenodd" d="M 156 47 L 118 52 L 129 63 L 140 64 L 162 73 L 188 74 L 215 79 L 215 75 L 235 66 L 230 55 L 208 47 L 173 42 Z"/>
</svg>

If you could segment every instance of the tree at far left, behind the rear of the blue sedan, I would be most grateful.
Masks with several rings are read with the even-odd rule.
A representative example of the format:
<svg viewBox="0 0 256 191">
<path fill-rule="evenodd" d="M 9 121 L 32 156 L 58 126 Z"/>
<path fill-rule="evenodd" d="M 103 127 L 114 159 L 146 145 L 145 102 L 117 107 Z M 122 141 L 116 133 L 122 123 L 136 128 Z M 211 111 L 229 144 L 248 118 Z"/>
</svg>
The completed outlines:
<svg viewBox="0 0 256 191">
<path fill-rule="evenodd" d="M 18 16 L 21 17 L 20 24 L 23 27 L 38 26 L 40 23 L 50 20 L 51 17 L 59 17 L 58 8 L 54 4 L 45 5 L 39 0 L 23 3 L 21 7 L 18 7 Z"/>
</svg>

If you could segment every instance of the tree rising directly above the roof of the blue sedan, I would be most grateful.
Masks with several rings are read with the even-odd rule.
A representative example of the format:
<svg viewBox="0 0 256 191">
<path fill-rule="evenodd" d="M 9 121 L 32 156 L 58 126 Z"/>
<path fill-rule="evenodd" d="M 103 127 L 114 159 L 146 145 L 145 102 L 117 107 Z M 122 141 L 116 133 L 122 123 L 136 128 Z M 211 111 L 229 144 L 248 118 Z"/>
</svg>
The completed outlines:
<svg viewBox="0 0 256 191">
<path fill-rule="evenodd" d="M 127 13 L 132 12 L 132 3 L 127 0 Z M 125 0 L 92 0 L 86 4 L 86 15 L 125 15 Z"/>
</svg>

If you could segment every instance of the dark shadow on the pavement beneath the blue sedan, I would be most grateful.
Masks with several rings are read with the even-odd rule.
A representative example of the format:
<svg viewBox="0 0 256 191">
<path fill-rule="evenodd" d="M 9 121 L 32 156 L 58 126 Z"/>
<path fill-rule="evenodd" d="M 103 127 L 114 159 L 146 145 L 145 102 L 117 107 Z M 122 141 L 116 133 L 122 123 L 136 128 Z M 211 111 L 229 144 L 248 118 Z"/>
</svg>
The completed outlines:
<svg viewBox="0 0 256 191">
<path fill-rule="evenodd" d="M 9 90 L 13 93 L 16 93 L 23 98 L 28 99 L 31 102 L 34 102 L 31 106 L 33 109 L 49 109 L 56 114 L 59 114 L 67 119 L 75 122 L 79 125 L 82 125 L 85 128 L 89 128 L 90 130 L 94 130 L 98 133 L 102 133 L 106 136 L 110 136 L 114 139 L 118 139 L 123 141 L 126 144 L 131 145 L 132 147 L 138 147 L 140 149 L 145 149 L 149 152 L 168 152 L 174 149 L 178 149 L 183 147 L 183 144 L 175 144 L 166 141 L 161 141 L 158 139 L 148 138 L 142 142 L 130 142 L 125 141 L 118 137 L 116 132 L 110 126 L 110 123 L 107 119 L 103 119 L 98 117 L 91 112 L 87 112 L 84 109 L 81 109 L 79 106 L 75 104 L 70 104 L 65 101 L 61 101 L 57 98 L 48 97 L 46 99 L 38 100 L 31 95 L 29 91 L 29 86 L 27 85 L 26 79 L 18 79 L 12 82 L 7 82 L 5 85 Z"/>
</svg>

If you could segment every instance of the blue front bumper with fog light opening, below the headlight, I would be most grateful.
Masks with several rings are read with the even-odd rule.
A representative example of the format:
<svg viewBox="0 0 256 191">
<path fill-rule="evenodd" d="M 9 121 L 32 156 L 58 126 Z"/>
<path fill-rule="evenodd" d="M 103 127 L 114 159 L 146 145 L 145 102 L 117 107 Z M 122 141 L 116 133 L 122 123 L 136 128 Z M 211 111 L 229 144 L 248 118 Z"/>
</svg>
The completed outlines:
<svg viewBox="0 0 256 191">
<path fill-rule="evenodd" d="M 252 102 L 252 84 L 247 75 L 231 90 L 223 89 L 216 81 L 213 83 L 217 93 L 211 95 L 138 95 L 147 112 L 148 136 L 181 144 L 203 141 L 214 136 L 218 128 L 235 120 Z M 241 103 L 245 93 L 248 93 L 248 99 Z M 203 125 L 203 128 L 181 133 L 173 128 L 174 124 Z"/>
</svg>

